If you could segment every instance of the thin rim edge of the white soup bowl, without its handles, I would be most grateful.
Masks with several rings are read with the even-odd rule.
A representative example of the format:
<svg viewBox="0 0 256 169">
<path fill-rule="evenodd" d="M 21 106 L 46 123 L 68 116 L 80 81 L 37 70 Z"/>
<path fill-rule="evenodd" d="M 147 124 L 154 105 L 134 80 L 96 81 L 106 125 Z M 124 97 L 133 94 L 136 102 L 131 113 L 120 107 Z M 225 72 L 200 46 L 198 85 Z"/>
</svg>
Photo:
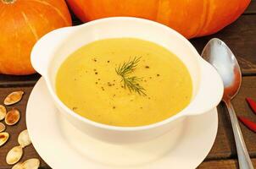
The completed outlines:
<svg viewBox="0 0 256 169">
<path fill-rule="evenodd" d="M 180 39 L 181 41 L 183 41 L 184 44 L 186 44 L 186 46 L 189 47 L 189 50 L 191 50 L 193 55 L 197 56 L 198 63 L 200 62 L 200 60 L 199 60 L 200 55 L 198 54 L 197 50 L 194 48 L 194 46 L 192 46 L 192 44 L 183 35 L 181 35 L 176 30 L 173 30 L 173 29 L 171 29 L 170 27 L 168 27 L 166 25 L 162 25 L 162 24 L 160 24 L 158 22 L 155 22 L 155 21 L 152 21 L 152 20 L 149 20 L 149 19 L 141 19 L 141 18 L 135 18 L 135 17 L 109 17 L 109 18 L 104 18 L 104 19 L 96 19 L 96 20 L 87 22 L 87 23 L 85 23 L 83 25 L 76 25 L 76 26 L 73 26 L 73 27 L 61 28 L 61 30 L 65 30 L 65 29 L 71 29 L 71 30 L 74 29 L 75 30 L 75 28 L 87 27 L 87 26 L 90 26 L 90 25 L 97 25 L 97 24 L 103 23 L 103 22 L 125 21 L 125 20 L 141 22 L 141 23 L 144 23 L 146 25 L 154 25 L 154 26 L 159 27 L 159 30 L 161 30 L 161 29 L 162 30 L 163 29 L 164 30 L 168 30 L 169 32 L 174 34 L 177 37 L 177 39 Z M 54 30 L 54 31 L 58 31 L 58 30 Z M 47 68 L 46 77 L 49 77 L 49 75 L 48 75 L 48 69 L 49 68 L 50 67 Z M 168 117 L 168 118 L 164 119 L 163 121 L 159 121 L 157 123 L 151 123 L 151 124 L 142 125 L 142 126 L 127 126 L 127 127 L 125 127 L 125 126 L 112 126 L 112 125 L 109 125 L 109 124 L 97 123 L 97 122 L 92 121 L 92 120 L 90 120 L 90 119 L 88 119 L 86 117 L 82 117 L 81 115 L 79 115 L 76 112 L 72 111 L 68 106 L 66 106 L 64 104 L 64 102 L 61 101 L 58 98 L 58 95 L 56 94 L 56 92 L 53 91 L 53 86 L 50 83 L 50 79 L 47 79 L 46 77 L 44 77 L 44 79 L 46 79 L 47 88 L 50 91 L 50 95 L 52 95 L 53 100 L 58 104 L 58 106 L 60 106 L 64 110 L 64 112 L 70 114 L 70 116 L 75 117 L 79 121 L 81 121 L 83 123 L 90 124 L 90 125 L 92 125 L 92 126 L 94 126 L 96 128 L 103 128 L 103 129 L 108 129 L 108 130 L 124 131 L 124 132 L 125 131 L 129 132 L 129 131 L 147 130 L 147 129 L 150 129 L 150 128 L 157 128 L 159 126 L 163 126 L 163 125 L 165 125 L 167 123 L 175 121 L 175 119 L 177 119 L 177 118 L 189 116 L 189 115 L 186 115 L 186 114 L 184 114 L 182 112 L 186 109 L 187 106 L 190 105 L 190 103 L 192 101 L 190 101 L 190 103 L 185 108 L 183 108 L 180 112 L 177 112 L 174 116 Z"/>
</svg>

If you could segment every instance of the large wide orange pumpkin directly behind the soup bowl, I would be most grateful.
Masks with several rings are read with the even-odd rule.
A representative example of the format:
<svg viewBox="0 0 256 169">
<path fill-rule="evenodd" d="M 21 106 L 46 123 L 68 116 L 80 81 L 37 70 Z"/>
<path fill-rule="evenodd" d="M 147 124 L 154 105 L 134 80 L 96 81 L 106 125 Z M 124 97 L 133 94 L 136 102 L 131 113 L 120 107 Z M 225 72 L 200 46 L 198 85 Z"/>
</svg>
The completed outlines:
<svg viewBox="0 0 256 169">
<path fill-rule="evenodd" d="M 186 38 L 209 35 L 235 21 L 250 0 L 67 0 L 84 22 L 111 16 L 152 19 Z"/>
</svg>

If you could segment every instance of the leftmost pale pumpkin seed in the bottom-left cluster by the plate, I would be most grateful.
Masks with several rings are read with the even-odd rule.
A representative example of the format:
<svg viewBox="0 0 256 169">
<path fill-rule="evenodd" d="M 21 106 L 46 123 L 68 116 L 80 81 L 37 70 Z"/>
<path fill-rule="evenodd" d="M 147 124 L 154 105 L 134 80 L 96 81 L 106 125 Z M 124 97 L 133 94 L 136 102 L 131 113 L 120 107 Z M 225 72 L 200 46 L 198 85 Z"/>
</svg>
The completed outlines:
<svg viewBox="0 0 256 169">
<path fill-rule="evenodd" d="M 23 150 L 21 145 L 15 146 L 13 149 L 8 151 L 6 155 L 6 162 L 9 165 L 13 165 L 19 161 L 21 156 L 23 155 Z"/>
</svg>

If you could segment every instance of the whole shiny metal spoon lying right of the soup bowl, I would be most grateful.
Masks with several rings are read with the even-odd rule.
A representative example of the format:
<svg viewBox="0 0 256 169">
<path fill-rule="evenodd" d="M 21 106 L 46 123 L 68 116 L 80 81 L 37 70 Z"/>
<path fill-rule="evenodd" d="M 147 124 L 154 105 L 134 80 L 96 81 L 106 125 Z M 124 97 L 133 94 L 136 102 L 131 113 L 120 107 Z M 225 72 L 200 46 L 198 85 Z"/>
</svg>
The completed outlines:
<svg viewBox="0 0 256 169">
<path fill-rule="evenodd" d="M 253 169 L 253 164 L 248 155 L 246 144 L 242 138 L 242 132 L 237 121 L 236 113 L 231 104 L 231 99 L 237 95 L 242 82 L 241 70 L 237 63 L 237 59 L 230 48 L 217 38 L 214 38 L 207 43 L 203 48 L 201 56 L 217 69 L 223 80 L 224 95 L 222 101 L 225 102 L 225 106 L 227 106 L 231 117 L 232 129 L 237 146 L 239 168 Z"/>
</svg>

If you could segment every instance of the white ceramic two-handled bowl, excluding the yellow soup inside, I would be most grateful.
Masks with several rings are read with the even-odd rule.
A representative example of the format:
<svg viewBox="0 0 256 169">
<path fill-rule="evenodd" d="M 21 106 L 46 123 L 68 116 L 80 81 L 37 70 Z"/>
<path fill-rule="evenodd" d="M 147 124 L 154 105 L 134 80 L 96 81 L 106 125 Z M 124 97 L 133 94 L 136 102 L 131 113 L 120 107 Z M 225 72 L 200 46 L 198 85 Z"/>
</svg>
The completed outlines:
<svg viewBox="0 0 256 169">
<path fill-rule="evenodd" d="M 192 76 L 191 103 L 173 117 L 142 127 L 115 127 L 92 122 L 65 106 L 55 93 L 55 77 L 61 63 L 70 53 L 87 43 L 118 37 L 153 41 L 174 52 L 186 64 Z M 31 52 L 31 62 L 45 79 L 59 112 L 63 113 L 76 128 L 104 141 L 129 143 L 153 139 L 175 128 L 176 124 L 182 123 L 185 117 L 203 114 L 213 109 L 219 104 L 223 95 L 220 75 L 199 56 L 192 44 L 175 30 L 147 19 L 115 17 L 53 30 L 37 41 Z"/>
</svg>

